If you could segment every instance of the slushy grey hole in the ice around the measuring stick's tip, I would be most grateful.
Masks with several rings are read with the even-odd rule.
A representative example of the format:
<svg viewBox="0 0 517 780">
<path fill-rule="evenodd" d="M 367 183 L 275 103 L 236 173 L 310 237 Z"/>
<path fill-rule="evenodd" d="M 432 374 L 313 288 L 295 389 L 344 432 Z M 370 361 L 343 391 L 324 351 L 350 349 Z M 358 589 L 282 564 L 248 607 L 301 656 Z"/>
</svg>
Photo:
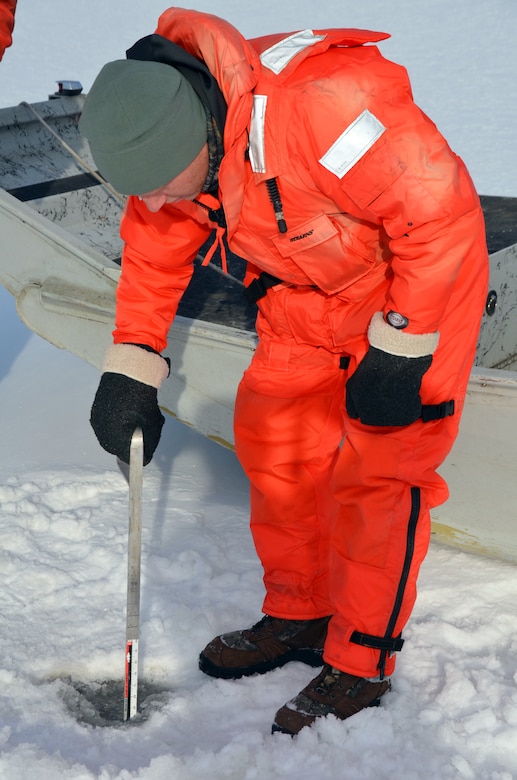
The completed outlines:
<svg viewBox="0 0 517 780">
<path fill-rule="evenodd" d="M 80 682 L 71 677 L 61 678 L 59 696 L 72 716 L 79 723 L 90 726 L 115 726 L 141 723 L 169 700 L 170 691 L 164 691 L 155 683 L 139 680 L 138 713 L 124 721 L 124 682 Z"/>
</svg>

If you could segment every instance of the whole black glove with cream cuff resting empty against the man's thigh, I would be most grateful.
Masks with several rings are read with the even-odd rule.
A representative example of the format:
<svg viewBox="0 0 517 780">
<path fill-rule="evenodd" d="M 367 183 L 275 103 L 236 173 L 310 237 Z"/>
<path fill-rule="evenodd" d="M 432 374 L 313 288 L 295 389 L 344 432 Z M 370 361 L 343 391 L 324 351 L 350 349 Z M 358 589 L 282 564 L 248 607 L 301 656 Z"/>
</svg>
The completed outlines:
<svg viewBox="0 0 517 780">
<path fill-rule="evenodd" d="M 404 333 L 377 312 L 368 340 L 368 351 L 346 384 L 348 415 L 363 425 L 410 425 L 422 414 L 420 386 L 439 333 Z"/>
</svg>

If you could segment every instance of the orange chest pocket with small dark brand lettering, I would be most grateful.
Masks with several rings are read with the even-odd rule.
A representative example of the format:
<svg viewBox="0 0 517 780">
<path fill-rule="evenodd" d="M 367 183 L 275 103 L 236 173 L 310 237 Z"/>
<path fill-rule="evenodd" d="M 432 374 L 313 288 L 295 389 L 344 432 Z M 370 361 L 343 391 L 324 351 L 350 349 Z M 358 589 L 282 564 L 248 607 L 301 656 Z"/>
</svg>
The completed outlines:
<svg viewBox="0 0 517 780">
<path fill-rule="evenodd" d="M 340 292 L 376 265 L 373 255 L 345 226 L 319 214 L 271 237 L 275 248 L 329 295 Z"/>
</svg>

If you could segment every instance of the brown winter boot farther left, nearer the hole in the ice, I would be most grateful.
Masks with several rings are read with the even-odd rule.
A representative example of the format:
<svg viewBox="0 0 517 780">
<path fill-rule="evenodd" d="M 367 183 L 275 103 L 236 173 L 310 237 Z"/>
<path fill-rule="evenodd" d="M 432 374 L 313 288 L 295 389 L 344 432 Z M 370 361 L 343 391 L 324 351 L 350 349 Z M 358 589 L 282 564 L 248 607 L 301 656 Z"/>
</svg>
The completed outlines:
<svg viewBox="0 0 517 780">
<path fill-rule="evenodd" d="M 265 615 L 251 628 L 213 639 L 199 656 L 199 668 L 212 677 L 237 679 L 269 672 L 289 661 L 321 666 L 329 620 L 284 620 Z"/>
</svg>

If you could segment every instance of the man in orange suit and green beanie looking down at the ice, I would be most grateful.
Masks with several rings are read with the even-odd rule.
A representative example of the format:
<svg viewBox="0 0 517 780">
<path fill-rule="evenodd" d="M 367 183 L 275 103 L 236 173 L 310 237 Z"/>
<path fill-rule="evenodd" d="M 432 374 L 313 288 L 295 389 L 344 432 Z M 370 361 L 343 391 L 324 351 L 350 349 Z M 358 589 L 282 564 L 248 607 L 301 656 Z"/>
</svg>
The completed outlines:
<svg viewBox="0 0 517 780">
<path fill-rule="evenodd" d="M 199 248 L 215 229 L 248 262 L 259 343 L 235 447 L 265 614 L 216 637 L 200 667 L 238 678 L 323 665 L 274 718 L 289 734 L 389 690 L 487 293 L 478 196 L 404 68 L 379 52 L 387 37 L 248 41 L 170 8 L 102 69 L 80 125 L 129 196 L 91 415 L 107 451 L 127 460 L 141 426 L 153 456 L 160 353 Z"/>
</svg>

